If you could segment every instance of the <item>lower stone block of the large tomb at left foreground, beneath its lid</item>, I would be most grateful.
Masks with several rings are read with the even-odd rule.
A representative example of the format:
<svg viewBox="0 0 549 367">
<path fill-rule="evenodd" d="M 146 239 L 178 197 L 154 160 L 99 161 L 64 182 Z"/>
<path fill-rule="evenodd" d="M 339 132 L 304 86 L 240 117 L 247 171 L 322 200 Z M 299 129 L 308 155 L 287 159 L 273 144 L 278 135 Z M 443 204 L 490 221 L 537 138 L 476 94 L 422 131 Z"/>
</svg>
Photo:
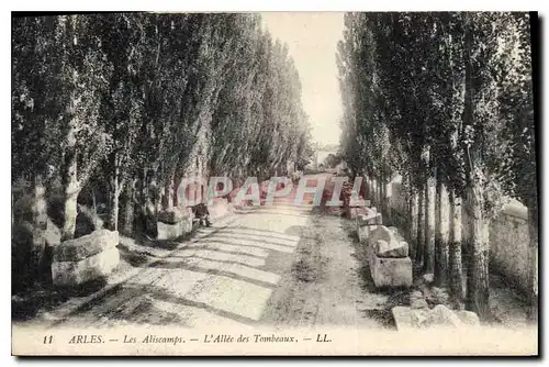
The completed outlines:
<svg viewBox="0 0 549 367">
<path fill-rule="evenodd" d="M 79 262 L 52 263 L 52 278 L 55 286 L 75 287 L 108 276 L 119 263 L 119 249 L 109 247 Z"/>
</svg>

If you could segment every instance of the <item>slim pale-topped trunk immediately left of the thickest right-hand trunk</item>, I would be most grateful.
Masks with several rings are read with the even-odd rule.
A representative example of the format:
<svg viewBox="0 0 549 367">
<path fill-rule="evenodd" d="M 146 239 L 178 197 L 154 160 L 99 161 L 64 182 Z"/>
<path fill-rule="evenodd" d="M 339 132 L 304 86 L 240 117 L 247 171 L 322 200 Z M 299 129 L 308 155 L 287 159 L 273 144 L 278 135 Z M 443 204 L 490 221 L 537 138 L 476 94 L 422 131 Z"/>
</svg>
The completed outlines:
<svg viewBox="0 0 549 367">
<path fill-rule="evenodd" d="M 449 193 L 450 232 L 448 237 L 450 263 L 450 297 L 455 305 L 463 301 L 463 267 L 461 265 L 461 199 Z"/>
</svg>

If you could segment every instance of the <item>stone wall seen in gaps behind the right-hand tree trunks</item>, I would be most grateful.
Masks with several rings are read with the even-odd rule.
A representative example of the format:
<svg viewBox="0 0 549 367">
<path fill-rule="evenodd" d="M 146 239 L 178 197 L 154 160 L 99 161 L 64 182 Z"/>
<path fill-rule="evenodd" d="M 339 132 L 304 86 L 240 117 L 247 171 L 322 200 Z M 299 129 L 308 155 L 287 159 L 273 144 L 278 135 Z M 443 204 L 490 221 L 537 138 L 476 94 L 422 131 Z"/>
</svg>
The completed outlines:
<svg viewBox="0 0 549 367">
<path fill-rule="evenodd" d="M 391 216 L 400 232 L 407 235 L 410 227 L 406 199 L 400 182 L 392 182 Z M 467 223 L 467 214 L 462 211 L 462 223 Z M 467 229 L 462 235 L 467 237 Z M 407 238 L 410 241 L 410 238 Z M 511 286 L 526 291 L 528 281 L 528 210 L 513 200 L 490 223 L 490 266 L 493 271 L 503 275 Z"/>
</svg>

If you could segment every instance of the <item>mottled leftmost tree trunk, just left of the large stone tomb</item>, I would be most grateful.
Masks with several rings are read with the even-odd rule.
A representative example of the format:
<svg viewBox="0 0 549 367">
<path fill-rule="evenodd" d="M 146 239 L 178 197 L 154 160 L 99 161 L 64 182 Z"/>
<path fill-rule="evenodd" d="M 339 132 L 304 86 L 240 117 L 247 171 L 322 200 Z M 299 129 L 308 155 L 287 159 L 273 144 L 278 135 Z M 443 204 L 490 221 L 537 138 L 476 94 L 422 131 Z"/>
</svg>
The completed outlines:
<svg viewBox="0 0 549 367">
<path fill-rule="evenodd" d="M 34 176 L 33 190 L 33 226 L 32 226 L 32 251 L 31 251 L 31 278 L 33 281 L 43 279 L 43 275 L 47 270 L 46 264 L 46 237 L 45 231 L 47 226 L 47 205 L 45 199 L 46 188 L 44 187 L 43 177 L 41 174 Z"/>
</svg>

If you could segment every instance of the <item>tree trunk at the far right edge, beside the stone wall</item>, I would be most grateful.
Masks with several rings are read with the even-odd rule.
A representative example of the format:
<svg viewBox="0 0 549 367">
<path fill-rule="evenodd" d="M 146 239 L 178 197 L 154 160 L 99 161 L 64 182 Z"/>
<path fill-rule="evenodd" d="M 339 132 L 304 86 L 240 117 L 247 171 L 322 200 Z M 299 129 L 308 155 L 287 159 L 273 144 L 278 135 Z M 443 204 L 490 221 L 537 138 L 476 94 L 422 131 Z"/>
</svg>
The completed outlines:
<svg viewBox="0 0 549 367">
<path fill-rule="evenodd" d="M 528 202 L 528 320 L 538 321 L 538 203 L 537 198 Z"/>
</svg>

